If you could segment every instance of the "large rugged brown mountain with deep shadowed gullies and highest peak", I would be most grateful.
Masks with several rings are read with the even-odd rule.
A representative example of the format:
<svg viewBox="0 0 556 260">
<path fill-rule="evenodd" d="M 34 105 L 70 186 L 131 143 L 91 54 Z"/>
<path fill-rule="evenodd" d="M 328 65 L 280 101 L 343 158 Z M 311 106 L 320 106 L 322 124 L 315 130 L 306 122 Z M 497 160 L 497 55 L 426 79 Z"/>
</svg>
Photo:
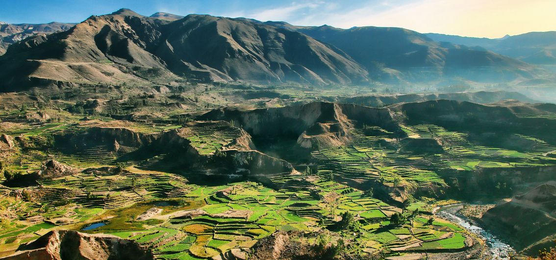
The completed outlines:
<svg viewBox="0 0 556 260">
<path fill-rule="evenodd" d="M 168 21 L 128 9 L 28 38 L 11 46 L 0 65 L 7 68 L 0 72 L 4 90 L 45 82 L 144 84 L 143 68 L 207 81 L 368 81 L 345 53 L 299 32 L 196 14 Z"/>
</svg>

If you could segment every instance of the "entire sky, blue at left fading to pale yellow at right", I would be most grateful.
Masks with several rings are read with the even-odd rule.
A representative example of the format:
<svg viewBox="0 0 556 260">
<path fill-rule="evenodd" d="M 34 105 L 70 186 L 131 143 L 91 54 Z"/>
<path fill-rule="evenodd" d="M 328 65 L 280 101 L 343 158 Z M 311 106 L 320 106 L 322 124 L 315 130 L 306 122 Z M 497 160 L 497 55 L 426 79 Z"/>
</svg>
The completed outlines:
<svg viewBox="0 0 556 260">
<path fill-rule="evenodd" d="M 7 23 L 81 22 L 120 8 L 247 17 L 300 26 L 327 24 L 403 27 L 469 37 L 499 38 L 556 31 L 556 0 L 0 0 Z"/>
</svg>

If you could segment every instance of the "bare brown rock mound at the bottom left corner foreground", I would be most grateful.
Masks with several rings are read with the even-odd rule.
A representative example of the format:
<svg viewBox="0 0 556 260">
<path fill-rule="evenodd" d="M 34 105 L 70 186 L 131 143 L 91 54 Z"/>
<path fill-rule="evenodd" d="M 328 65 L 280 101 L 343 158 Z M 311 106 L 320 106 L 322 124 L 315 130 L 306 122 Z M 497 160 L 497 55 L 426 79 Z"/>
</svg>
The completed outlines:
<svg viewBox="0 0 556 260">
<path fill-rule="evenodd" d="M 146 260 L 154 257 L 152 252 L 128 239 L 106 234 L 54 230 L 20 247 L 12 256 L 0 259 Z"/>
</svg>

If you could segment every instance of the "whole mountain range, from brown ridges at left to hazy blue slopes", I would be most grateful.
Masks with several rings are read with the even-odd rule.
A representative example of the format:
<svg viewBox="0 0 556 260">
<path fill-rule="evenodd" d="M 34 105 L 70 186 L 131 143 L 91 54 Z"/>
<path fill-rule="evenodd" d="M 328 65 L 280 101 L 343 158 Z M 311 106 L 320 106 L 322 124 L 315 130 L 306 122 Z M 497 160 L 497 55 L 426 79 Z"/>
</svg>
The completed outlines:
<svg viewBox="0 0 556 260">
<path fill-rule="evenodd" d="M 146 17 L 130 9 L 75 26 L 51 24 L 16 27 L 3 36 L 14 40 L 0 56 L 1 91 L 183 78 L 304 85 L 520 82 L 543 73 L 483 47 L 437 42 L 403 28 L 300 27 L 198 14 Z"/>
</svg>

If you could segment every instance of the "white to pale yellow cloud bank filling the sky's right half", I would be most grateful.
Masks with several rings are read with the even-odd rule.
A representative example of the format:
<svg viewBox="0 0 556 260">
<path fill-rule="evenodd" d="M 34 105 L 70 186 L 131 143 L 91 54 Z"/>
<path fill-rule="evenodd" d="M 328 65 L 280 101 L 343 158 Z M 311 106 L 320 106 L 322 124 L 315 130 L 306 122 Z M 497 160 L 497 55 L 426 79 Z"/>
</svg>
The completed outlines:
<svg viewBox="0 0 556 260">
<path fill-rule="evenodd" d="M 320 3 L 306 15 L 295 6 L 270 10 L 272 19 L 296 25 L 328 24 L 403 27 L 418 32 L 438 32 L 474 37 L 502 37 L 530 31 L 554 31 L 554 0 L 386 0 L 351 4 Z M 302 8 L 302 7 L 300 7 Z"/>
</svg>

